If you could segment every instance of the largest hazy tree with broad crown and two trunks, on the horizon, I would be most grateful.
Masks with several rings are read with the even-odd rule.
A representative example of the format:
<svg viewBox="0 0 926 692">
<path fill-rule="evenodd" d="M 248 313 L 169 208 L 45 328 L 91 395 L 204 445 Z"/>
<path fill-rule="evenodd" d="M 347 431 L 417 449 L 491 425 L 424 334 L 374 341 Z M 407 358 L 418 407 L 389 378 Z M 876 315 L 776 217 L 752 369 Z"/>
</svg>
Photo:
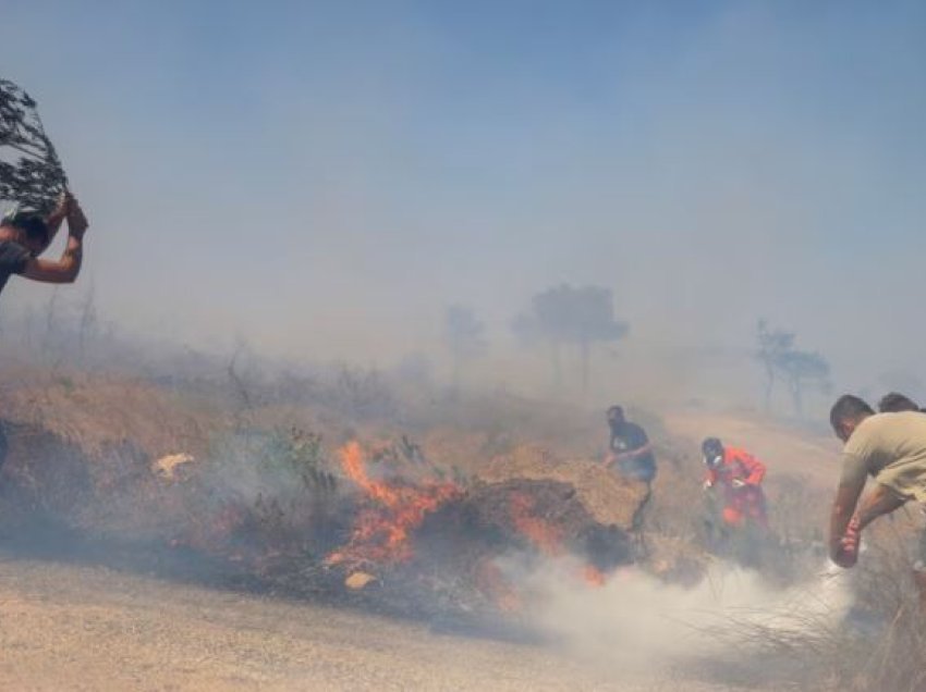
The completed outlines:
<svg viewBox="0 0 926 692">
<path fill-rule="evenodd" d="M 538 293 L 527 311 L 512 321 L 512 330 L 523 343 L 543 342 L 550 347 L 553 383 L 562 385 L 560 350 L 563 344 L 578 347 L 582 390 L 588 390 L 592 346 L 596 342 L 613 342 L 626 336 L 625 322 L 614 318 L 614 299 L 610 288 L 568 284 Z"/>
</svg>

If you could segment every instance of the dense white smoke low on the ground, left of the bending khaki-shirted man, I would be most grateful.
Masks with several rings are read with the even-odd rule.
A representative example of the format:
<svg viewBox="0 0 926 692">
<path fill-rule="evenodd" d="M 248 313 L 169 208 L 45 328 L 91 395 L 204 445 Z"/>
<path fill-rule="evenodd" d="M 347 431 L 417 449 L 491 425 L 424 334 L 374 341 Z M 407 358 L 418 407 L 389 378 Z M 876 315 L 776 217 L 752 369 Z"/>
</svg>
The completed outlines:
<svg viewBox="0 0 926 692">
<path fill-rule="evenodd" d="M 852 606 L 848 573 L 831 565 L 787 588 L 722 563 L 694 586 L 669 584 L 633 567 L 602 586 L 582 583 L 577 573 L 577 565 L 566 560 L 523 577 L 538 596 L 535 622 L 589 662 L 637 674 L 726 659 L 744 628 L 813 634 L 837 626 Z M 746 643 L 733 648 L 740 659 L 750 654 Z"/>
</svg>

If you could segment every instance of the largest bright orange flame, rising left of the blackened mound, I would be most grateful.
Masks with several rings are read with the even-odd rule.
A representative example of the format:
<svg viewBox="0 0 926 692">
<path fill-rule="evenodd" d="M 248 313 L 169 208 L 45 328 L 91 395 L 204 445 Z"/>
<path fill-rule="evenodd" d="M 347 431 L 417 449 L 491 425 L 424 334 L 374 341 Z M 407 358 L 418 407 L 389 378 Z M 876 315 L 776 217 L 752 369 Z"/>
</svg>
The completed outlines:
<svg viewBox="0 0 926 692">
<path fill-rule="evenodd" d="M 339 563 L 402 563 L 414 551 L 409 534 L 421 526 L 425 516 L 460 495 L 453 483 L 426 483 L 419 486 L 375 481 L 369 478 L 360 444 L 351 442 L 341 452 L 341 464 L 348 477 L 360 485 L 378 506 L 361 511 L 354 523 L 350 543 L 328 556 L 329 565 Z"/>
</svg>

